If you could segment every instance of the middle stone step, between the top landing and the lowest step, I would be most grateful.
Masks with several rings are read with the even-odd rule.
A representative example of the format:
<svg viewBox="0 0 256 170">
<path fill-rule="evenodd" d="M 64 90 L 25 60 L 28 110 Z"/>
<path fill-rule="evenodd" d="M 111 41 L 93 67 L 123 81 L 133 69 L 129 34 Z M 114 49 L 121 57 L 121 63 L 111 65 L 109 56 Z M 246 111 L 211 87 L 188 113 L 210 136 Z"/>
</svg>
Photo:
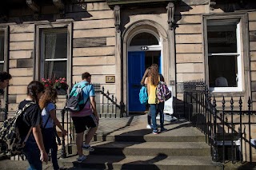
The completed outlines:
<svg viewBox="0 0 256 170">
<path fill-rule="evenodd" d="M 210 156 L 210 147 L 202 142 L 96 142 L 91 144 L 94 152 L 90 155 L 125 156 Z M 75 146 L 72 148 L 76 152 Z"/>
</svg>

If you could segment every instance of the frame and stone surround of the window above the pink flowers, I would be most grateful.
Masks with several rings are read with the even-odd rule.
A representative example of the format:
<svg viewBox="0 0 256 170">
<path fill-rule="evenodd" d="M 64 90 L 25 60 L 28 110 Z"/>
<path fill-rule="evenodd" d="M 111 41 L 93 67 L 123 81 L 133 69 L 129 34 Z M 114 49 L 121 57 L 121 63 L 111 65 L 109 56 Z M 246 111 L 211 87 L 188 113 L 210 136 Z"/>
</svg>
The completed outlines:
<svg viewBox="0 0 256 170">
<path fill-rule="evenodd" d="M 51 32 L 52 30 L 54 29 L 62 29 L 62 28 L 65 28 L 66 29 L 66 32 L 67 32 L 67 45 L 66 45 L 66 53 L 67 53 L 67 57 L 66 58 L 57 58 L 57 59 L 45 59 L 45 58 L 42 58 L 42 46 L 43 45 L 43 40 L 41 39 L 42 37 L 42 34 L 44 32 L 44 30 L 46 29 L 50 29 Z M 41 34 L 42 33 L 42 34 Z M 47 31 L 46 31 L 47 33 Z M 72 60 L 71 60 L 71 41 L 72 41 L 72 22 L 56 22 L 56 23 L 46 23 L 46 24 L 38 24 L 36 25 L 36 56 L 35 56 L 35 65 L 34 65 L 34 79 L 35 80 L 38 80 L 38 81 L 41 81 L 40 79 L 42 78 L 43 76 L 43 73 L 42 73 L 42 67 L 44 65 L 44 62 L 45 61 L 66 61 L 66 66 L 67 66 L 67 69 L 66 69 L 66 82 L 68 85 L 71 85 L 71 78 L 72 78 Z"/>
</svg>

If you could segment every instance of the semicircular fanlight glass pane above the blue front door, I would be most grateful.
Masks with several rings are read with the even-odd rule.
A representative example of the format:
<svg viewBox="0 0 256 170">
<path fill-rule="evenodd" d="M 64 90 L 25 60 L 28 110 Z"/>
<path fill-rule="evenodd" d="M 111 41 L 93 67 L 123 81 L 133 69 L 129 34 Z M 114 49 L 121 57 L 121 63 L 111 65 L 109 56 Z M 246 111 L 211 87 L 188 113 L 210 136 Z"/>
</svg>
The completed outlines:
<svg viewBox="0 0 256 170">
<path fill-rule="evenodd" d="M 140 33 L 134 36 L 130 42 L 130 46 L 134 45 L 158 45 L 158 39 L 149 33 Z"/>
</svg>

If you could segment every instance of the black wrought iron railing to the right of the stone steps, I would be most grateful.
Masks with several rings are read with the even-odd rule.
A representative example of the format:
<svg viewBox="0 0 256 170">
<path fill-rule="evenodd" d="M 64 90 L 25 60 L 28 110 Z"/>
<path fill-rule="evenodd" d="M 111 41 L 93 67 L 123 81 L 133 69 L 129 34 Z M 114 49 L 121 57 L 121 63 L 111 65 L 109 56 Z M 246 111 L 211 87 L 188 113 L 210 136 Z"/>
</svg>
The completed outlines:
<svg viewBox="0 0 256 170">
<path fill-rule="evenodd" d="M 237 100 L 230 97 L 229 105 L 226 98 L 221 97 L 217 101 L 217 97 L 213 97 L 212 100 L 203 81 L 185 82 L 185 117 L 205 134 L 214 161 L 252 163 L 252 148 L 255 146 L 252 144 L 251 127 L 255 122 L 251 117 L 256 115 L 256 111 L 251 109 L 250 97 L 245 104 L 247 109 L 242 105 L 242 97 Z"/>
</svg>

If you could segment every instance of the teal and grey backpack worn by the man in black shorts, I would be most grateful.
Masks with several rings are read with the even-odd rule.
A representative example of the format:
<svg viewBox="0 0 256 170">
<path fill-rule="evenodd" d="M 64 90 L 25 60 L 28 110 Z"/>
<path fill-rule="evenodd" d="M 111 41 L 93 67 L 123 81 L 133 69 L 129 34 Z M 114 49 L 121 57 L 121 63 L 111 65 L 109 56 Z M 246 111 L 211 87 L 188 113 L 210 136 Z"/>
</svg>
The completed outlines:
<svg viewBox="0 0 256 170">
<path fill-rule="evenodd" d="M 72 90 L 70 92 L 70 96 L 66 100 L 66 107 L 65 107 L 66 110 L 71 111 L 71 112 L 79 112 L 85 107 L 87 101 L 90 99 L 90 97 L 88 97 L 87 101 L 84 103 L 82 89 L 84 87 L 86 87 L 86 85 L 88 85 L 88 84 L 74 85 L 74 87 L 72 88 Z"/>
</svg>

